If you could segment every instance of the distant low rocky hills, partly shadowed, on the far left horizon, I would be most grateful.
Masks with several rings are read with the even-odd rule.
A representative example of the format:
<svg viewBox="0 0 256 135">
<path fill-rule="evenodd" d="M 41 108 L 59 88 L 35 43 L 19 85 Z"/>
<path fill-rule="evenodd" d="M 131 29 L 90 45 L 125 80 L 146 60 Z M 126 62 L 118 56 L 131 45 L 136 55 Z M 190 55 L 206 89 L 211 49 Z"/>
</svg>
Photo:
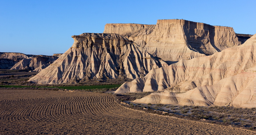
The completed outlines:
<svg viewBox="0 0 256 135">
<path fill-rule="evenodd" d="M 0 53 L 0 69 L 29 69 L 39 72 L 56 59 L 58 57 L 55 56 Z"/>
</svg>

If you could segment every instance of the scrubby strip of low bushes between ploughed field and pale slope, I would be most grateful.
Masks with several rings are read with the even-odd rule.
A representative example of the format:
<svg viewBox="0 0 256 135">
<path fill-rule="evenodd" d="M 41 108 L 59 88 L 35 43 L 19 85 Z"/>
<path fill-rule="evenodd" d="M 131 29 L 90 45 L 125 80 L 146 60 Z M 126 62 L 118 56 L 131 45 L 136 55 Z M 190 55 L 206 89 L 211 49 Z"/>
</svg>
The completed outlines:
<svg viewBox="0 0 256 135">
<path fill-rule="evenodd" d="M 248 130 L 256 130 L 256 108 L 235 108 L 235 107 L 199 107 L 199 106 L 172 106 L 165 108 L 162 104 L 155 104 L 147 109 L 141 109 L 143 104 L 134 105 L 130 108 L 141 109 L 143 111 L 174 116 L 182 119 L 203 121 L 224 126 L 240 127 Z M 168 113 L 168 114 L 167 114 Z"/>
</svg>

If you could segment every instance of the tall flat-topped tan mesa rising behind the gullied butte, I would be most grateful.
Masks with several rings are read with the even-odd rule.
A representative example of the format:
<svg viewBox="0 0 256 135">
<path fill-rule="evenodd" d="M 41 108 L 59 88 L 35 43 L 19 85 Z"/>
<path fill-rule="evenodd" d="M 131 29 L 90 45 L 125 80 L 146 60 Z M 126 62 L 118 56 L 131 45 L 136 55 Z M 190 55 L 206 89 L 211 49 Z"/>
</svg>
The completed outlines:
<svg viewBox="0 0 256 135">
<path fill-rule="evenodd" d="M 137 24 L 118 24 L 118 27 L 116 24 L 107 24 L 104 33 L 125 36 L 150 54 L 170 63 L 212 55 L 225 48 L 241 45 L 231 27 L 179 19 L 157 20 L 156 25 L 137 27 Z M 124 29 L 128 32 L 123 32 Z"/>
</svg>

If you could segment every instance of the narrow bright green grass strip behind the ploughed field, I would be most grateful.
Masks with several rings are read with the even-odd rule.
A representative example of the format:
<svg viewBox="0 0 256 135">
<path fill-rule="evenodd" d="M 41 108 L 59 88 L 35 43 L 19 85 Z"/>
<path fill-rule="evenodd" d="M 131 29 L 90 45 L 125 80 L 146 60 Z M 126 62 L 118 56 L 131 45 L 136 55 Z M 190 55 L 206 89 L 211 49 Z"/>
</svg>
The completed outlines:
<svg viewBox="0 0 256 135">
<path fill-rule="evenodd" d="M 0 88 L 25 88 L 25 87 L 37 87 L 37 88 L 63 88 L 63 89 L 96 89 L 96 88 L 117 88 L 121 84 L 114 85 L 93 85 L 93 86 L 18 86 L 18 85 L 0 85 Z"/>
</svg>

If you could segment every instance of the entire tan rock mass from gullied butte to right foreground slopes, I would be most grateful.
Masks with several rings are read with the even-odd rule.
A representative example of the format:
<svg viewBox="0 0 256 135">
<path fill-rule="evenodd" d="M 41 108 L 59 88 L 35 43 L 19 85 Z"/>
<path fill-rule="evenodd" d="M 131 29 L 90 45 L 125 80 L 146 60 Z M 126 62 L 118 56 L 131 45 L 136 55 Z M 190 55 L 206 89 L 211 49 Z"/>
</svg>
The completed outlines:
<svg viewBox="0 0 256 135">
<path fill-rule="evenodd" d="M 256 107 L 255 35 L 187 20 L 106 24 L 74 43 L 29 81 L 77 83 L 132 78 L 115 93 L 152 93 L 137 103 Z"/>
</svg>

